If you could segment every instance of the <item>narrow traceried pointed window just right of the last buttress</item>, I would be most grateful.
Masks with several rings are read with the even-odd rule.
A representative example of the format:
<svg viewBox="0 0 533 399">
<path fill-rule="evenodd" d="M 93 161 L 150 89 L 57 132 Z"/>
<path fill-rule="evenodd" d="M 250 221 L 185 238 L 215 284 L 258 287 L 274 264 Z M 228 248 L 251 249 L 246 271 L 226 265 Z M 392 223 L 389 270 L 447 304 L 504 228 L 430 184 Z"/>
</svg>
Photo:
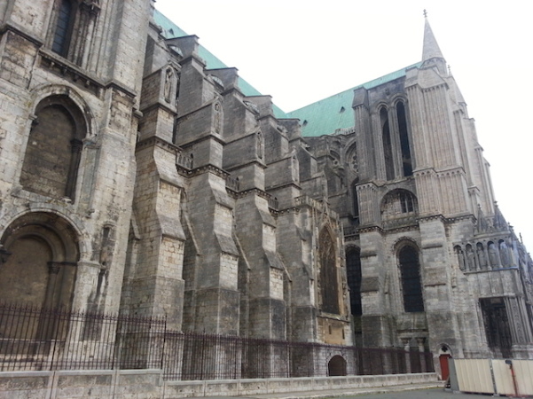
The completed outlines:
<svg viewBox="0 0 533 399">
<path fill-rule="evenodd" d="M 322 310 L 339 314 L 339 282 L 333 238 L 327 229 L 320 232 L 320 292 Z"/>
</svg>

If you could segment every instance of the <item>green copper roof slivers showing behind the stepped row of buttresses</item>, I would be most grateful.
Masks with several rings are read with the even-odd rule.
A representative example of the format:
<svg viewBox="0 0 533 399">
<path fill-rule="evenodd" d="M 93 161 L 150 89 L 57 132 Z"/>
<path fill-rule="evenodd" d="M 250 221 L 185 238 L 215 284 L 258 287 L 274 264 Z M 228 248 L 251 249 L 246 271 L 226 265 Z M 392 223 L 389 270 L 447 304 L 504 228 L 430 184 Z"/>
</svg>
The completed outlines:
<svg viewBox="0 0 533 399">
<path fill-rule="evenodd" d="M 171 38 L 171 37 L 182 37 L 187 36 L 188 34 L 181 28 L 177 27 L 174 22 L 165 17 L 161 12 L 154 10 L 153 11 L 153 20 L 156 25 L 159 25 L 163 31 L 162 35 Z M 229 66 L 225 65 L 220 59 L 217 59 L 210 51 L 208 51 L 204 46 L 200 45 L 198 49 L 198 55 L 201 59 L 206 61 L 206 67 L 208 69 L 218 69 L 218 68 L 227 68 Z M 254 86 L 245 81 L 239 76 L 239 89 L 245 96 L 263 96 L 259 90 L 256 90 Z M 274 115 L 277 118 L 286 118 L 286 113 L 284 113 L 278 106 L 273 105 Z"/>
</svg>

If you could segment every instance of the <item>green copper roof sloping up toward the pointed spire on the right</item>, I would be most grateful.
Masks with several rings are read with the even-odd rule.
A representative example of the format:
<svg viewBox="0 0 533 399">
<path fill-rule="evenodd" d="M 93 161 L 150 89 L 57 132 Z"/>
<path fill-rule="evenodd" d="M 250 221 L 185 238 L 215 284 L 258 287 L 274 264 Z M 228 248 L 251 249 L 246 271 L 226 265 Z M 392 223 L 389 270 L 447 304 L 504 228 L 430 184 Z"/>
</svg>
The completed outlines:
<svg viewBox="0 0 533 399">
<path fill-rule="evenodd" d="M 380 84 L 392 82 L 405 76 L 405 71 L 411 67 L 419 67 L 421 62 L 404 67 L 391 74 L 386 74 L 373 81 L 360 84 L 349 90 L 342 91 L 331 97 L 324 98 L 316 103 L 304 106 L 293 112 L 286 113 L 287 118 L 297 118 L 302 122 L 302 136 L 317 137 L 331 135 L 339 129 L 349 129 L 354 126 L 354 113 L 352 101 L 354 90 L 364 87 L 370 90 Z"/>
</svg>

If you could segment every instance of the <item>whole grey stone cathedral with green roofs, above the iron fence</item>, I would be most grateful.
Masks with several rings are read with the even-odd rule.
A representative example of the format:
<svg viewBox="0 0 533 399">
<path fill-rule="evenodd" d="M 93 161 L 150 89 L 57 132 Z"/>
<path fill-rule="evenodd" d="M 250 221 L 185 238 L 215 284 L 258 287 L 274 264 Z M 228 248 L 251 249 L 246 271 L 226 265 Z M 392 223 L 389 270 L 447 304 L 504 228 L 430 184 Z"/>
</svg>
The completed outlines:
<svg viewBox="0 0 533 399">
<path fill-rule="evenodd" d="M 0 2 L 0 301 L 533 358 L 533 264 L 426 22 L 284 113 L 148 0 Z"/>
</svg>

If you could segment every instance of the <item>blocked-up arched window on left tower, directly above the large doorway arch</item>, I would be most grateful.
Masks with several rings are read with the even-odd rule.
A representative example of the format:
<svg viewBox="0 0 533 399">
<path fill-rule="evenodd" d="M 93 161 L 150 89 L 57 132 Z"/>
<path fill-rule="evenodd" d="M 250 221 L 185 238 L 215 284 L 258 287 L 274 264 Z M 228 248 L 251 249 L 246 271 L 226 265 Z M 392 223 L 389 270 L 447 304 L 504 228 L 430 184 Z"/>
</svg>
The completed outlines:
<svg viewBox="0 0 533 399">
<path fill-rule="evenodd" d="M 82 112 L 66 96 L 45 98 L 29 132 L 20 184 L 30 192 L 74 200 L 82 139 Z"/>
</svg>

